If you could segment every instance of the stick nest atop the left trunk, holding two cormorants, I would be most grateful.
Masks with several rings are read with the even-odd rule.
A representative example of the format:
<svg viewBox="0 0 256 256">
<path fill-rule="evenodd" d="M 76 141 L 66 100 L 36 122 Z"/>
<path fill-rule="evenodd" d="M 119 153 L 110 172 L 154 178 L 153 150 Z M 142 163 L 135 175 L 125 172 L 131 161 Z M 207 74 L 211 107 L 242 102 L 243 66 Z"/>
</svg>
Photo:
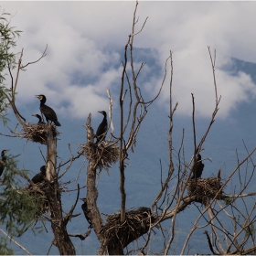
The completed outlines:
<svg viewBox="0 0 256 256">
<path fill-rule="evenodd" d="M 56 137 L 59 135 L 56 127 L 51 125 L 53 136 Z M 32 123 L 23 125 L 23 137 L 27 138 L 27 140 L 40 143 L 47 144 L 48 142 L 48 124 L 47 123 Z"/>
</svg>

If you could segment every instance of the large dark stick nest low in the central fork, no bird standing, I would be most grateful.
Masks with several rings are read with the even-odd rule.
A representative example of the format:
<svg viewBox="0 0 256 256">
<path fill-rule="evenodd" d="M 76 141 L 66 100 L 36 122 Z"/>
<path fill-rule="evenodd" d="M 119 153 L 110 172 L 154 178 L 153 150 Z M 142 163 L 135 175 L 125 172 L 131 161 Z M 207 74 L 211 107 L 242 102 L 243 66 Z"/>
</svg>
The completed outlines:
<svg viewBox="0 0 256 256">
<path fill-rule="evenodd" d="M 101 228 L 101 234 L 107 241 L 108 248 L 115 248 L 117 244 L 126 247 L 131 241 L 144 235 L 154 221 L 151 208 L 137 208 L 125 212 L 125 221 L 121 224 L 121 213 L 106 215 L 105 225 Z"/>
</svg>

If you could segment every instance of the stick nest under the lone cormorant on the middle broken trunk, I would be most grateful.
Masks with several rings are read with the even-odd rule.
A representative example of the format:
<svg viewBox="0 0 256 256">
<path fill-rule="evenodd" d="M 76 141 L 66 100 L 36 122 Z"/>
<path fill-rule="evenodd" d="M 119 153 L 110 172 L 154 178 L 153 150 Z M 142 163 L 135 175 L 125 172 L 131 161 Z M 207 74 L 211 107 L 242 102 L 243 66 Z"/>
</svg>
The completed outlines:
<svg viewBox="0 0 256 256">
<path fill-rule="evenodd" d="M 80 144 L 83 155 L 90 160 L 93 157 L 96 160 L 99 169 L 105 169 L 108 173 L 119 158 L 119 147 L 115 142 L 101 142 L 100 144 Z"/>
</svg>

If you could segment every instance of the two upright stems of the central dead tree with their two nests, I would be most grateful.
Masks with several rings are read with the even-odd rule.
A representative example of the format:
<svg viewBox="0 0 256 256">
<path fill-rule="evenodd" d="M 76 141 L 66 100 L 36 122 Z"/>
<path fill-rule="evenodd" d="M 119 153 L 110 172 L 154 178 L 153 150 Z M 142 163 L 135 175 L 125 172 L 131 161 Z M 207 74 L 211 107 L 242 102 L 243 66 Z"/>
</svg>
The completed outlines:
<svg viewBox="0 0 256 256">
<path fill-rule="evenodd" d="M 139 133 L 141 123 L 144 121 L 144 117 L 148 112 L 148 107 L 157 99 L 163 88 L 168 60 L 167 59 L 165 63 L 165 75 L 162 84 L 159 86 L 159 91 L 155 95 L 154 99 L 145 101 L 141 88 L 137 82 L 139 74 L 144 68 L 145 63 L 141 64 L 139 70 L 135 70 L 133 63 L 133 40 L 135 36 L 140 34 L 146 23 L 145 19 L 143 26 L 138 32 L 135 32 L 135 24 L 137 22 L 137 5 L 138 2 L 136 3 L 133 14 L 132 33 L 129 35 L 128 41 L 124 47 L 124 61 L 122 63 L 123 73 L 121 78 L 121 91 L 119 95 L 119 104 L 121 109 L 119 136 L 116 139 L 111 140 L 113 136 L 112 127 L 111 137 L 107 142 L 94 144 L 90 115 L 86 124 L 87 144 L 81 145 L 84 155 L 89 160 L 86 195 L 89 211 L 88 217 L 91 220 L 92 228 L 94 229 L 98 239 L 101 241 L 99 254 L 123 254 L 123 248 L 133 240 L 137 240 L 139 237 L 144 235 L 144 233 L 148 231 L 153 219 L 155 219 L 150 208 L 142 207 L 132 211 L 125 208 L 125 160 L 128 157 L 128 152 L 130 150 L 133 151 L 136 144 L 136 137 Z M 128 60 L 129 58 L 130 61 Z M 131 77 L 129 74 L 131 74 Z M 110 105 L 112 105 L 110 93 L 109 98 L 111 101 Z M 123 107 L 123 103 L 126 99 L 129 106 L 128 110 L 124 110 Z M 109 115 L 112 115 L 111 109 Z M 120 170 L 121 211 L 120 213 L 110 215 L 106 219 L 105 223 L 103 223 L 100 210 L 97 207 L 98 190 L 95 186 L 97 168 L 101 170 L 102 167 L 109 167 L 117 160 L 119 160 Z"/>
</svg>

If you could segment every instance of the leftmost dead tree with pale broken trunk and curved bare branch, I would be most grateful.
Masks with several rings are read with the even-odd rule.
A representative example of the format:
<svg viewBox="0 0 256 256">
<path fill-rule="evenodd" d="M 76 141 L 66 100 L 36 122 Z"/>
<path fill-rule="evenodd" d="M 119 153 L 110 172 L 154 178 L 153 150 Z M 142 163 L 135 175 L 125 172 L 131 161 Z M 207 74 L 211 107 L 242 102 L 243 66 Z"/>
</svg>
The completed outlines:
<svg viewBox="0 0 256 256">
<path fill-rule="evenodd" d="M 10 104 L 12 110 L 14 111 L 17 122 L 22 126 L 20 131 L 18 131 L 18 125 L 16 125 L 16 129 L 11 131 L 15 134 L 14 136 L 25 138 L 34 143 L 46 145 L 46 180 L 44 182 L 44 185 L 37 186 L 33 182 L 31 182 L 31 180 L 27 176 L 25 178 L 30 183 L 30 195 L 35 196 L 35 194 L 40 193 L 40 195 L 44 198 L 44 201 L 47 202 L 46 204 L 44 204 L 45 206 L 47 205 L 47 208 L 42 209 L 42 212 L 40 212 L 40 214 L 44 214 L 46 211 L 50 212 L 49 221 L 51 222 L 51 228 L 54 233 L 54 240 L 52 241 L 52 244 L 58 247 L 59 254 L 74 255 L 76 254 L 76 251 L 72 244 L 72 241 L 69 238 L 67 224 L 69 219 L 73 217 L 72 213 L 77 201 L 75 205 L 70 209 L 69 213 L 66 216 L 63 216 L 60 195 L 61 192 L 59 187 L 59 172 L 57 172 L 60 168 L 60 165 L 57 165 L 57 136 L 59 135 L 59 132 L 57 131 L 56 127 L 50 123 L 27 123 L 26 119 L 16 108 L 16 88 L 20 70 L 23 70 L 27 68 L 28 65 L 34 64 L 38 60 L 44 58 L 46 56 L 46 50 L 39 59 L 33 62 L 29 62 L 27 63 L 27 65 L 22 65 L 22 50 L 20 58 L 18 59 L 15 78 L 13 77 L 11 65 L 8 66 L 9 75 L 11 77 L 11 87 L 10 90 L 5 89 L 5 98 Z M 80 155 L 71 157 L 71 159 L 69 159 L 66 164 L 68 164 L 69 162 L 72 163 L 72 161 L 79 156 Z M 67 169 L 69 169 L 69 167 Z M 22 193 L 22 191 L 20 191 L 20 193 Z"/>
</svg>

